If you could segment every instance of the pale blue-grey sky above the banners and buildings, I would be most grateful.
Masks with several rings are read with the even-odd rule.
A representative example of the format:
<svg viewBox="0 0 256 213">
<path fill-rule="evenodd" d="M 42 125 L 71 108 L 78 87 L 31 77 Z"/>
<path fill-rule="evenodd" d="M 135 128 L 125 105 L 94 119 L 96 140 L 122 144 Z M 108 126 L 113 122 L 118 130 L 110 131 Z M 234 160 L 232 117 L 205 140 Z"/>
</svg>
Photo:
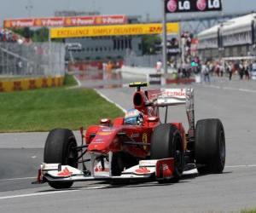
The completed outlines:
<svg viewBox="0 0 256 213">
<path fill-rule="evenodd" d="M 0 26 L 4 19 L 53 16 L 55 10 L 99 11 L 101 14 L 141 15 L 161 19 L 162 0 L 0 0 Z M 256 11 L 256 0 L 223 0 L 224 13 Z M 32 5 L 32 9 L 27 8 Z M 174 14 L 170 14 L 174 15 Z M 170 16 L 169 15 L 169 16 Z"/>
</svg>

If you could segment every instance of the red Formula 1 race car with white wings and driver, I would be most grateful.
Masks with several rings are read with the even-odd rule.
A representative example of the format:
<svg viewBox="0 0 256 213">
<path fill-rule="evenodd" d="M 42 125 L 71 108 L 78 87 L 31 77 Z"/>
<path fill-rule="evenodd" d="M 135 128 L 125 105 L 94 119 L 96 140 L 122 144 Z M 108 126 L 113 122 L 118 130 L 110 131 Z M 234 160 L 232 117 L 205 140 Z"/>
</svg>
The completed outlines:
<svg viewBox="0 0 256 213">
<path fill-rule="evenodd" d="M 51 130 L 38 182 L 67 188 L 74 181 L 178 181 L 183 171 L 195 168 L 200 174 L 221 173 L 225 163 L 224 127 L 215 118 L 199 120 L 195 126 L 194 90 L 141 90 L 145 86 L 147 83 L 131 83 L 130 87 L 137 88 L 134 109 L 113 122 L 102 118 L 85 135 L 81 130 L 81 146 L 71 130 Z M 183 124 L 166 121 L 168 107 L 182 104 L 189 120 L 187 133 Z M 160 122 L 160 107 L 166 107 L 164 123 Z M 85 162 L 90 162 L 90 169 Z"/>
</svg>

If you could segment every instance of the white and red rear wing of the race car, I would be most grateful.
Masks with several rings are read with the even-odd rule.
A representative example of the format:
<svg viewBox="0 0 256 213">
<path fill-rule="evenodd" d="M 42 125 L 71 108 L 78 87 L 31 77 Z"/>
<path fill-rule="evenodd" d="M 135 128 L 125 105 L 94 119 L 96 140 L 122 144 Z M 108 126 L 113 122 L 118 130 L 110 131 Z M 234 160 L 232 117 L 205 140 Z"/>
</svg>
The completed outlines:
<svg viewBox="0 0 256 213">
<path fill-rule="evenodd" d="M 189 136 L 195 135 L 194 89 L 151 89 L 147 91 L 148 101 L 155 107 L 186 105 L 189 120 Z"/>
</svg>

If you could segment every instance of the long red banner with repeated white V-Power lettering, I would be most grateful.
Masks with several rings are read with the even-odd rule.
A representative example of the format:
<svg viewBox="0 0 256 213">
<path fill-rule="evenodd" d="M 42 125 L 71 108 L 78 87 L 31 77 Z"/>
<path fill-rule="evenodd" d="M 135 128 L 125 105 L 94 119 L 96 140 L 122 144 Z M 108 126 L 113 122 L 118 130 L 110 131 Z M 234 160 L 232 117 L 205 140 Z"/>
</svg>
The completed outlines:
<svg viewBox="0 0 256 213">
<path fill-rule="evenodd" d="M 122 25 L 127 24 L 127 16 L 96 15 L 96 16 L 73 16 L 3 20 L 4 28 L 21 27 L 60 27 L 60 26 L 99 26 L 99 25 Z"/>
</svg>

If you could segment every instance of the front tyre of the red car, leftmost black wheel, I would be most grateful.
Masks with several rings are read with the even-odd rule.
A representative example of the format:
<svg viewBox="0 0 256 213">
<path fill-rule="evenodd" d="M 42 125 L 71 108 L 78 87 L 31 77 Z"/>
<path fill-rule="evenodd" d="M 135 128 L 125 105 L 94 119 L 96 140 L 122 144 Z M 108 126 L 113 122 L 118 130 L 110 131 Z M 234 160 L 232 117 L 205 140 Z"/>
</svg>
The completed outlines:
<svg viewBox="0 0 256 213">
<path fill-rule="evenodd" d="M 44 146 L 44 163 L 70 165 L 78 168 L 77 141 L 71 130 L 55 129 L 49 132 Z M 49 181 L 49 186 L 60 189 L 72 187 L 73 181 Z"/>
</svg>

